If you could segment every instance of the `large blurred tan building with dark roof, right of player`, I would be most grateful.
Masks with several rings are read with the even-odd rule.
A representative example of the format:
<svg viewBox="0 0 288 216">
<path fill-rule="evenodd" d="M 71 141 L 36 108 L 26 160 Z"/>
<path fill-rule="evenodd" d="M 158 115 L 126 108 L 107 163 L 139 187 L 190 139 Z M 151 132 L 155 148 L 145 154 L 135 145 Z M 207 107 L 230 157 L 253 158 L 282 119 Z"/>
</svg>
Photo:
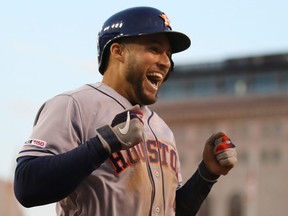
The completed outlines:
<svg viewBox="0 0 288 216">
<path fill-rule="evenodd" d="M 199 216 L 288 215 L 288 54 L 178 66 L 153 108 L 175 133 L 185 181 L 212 133 L 237 145 Z"/>
</svg>

